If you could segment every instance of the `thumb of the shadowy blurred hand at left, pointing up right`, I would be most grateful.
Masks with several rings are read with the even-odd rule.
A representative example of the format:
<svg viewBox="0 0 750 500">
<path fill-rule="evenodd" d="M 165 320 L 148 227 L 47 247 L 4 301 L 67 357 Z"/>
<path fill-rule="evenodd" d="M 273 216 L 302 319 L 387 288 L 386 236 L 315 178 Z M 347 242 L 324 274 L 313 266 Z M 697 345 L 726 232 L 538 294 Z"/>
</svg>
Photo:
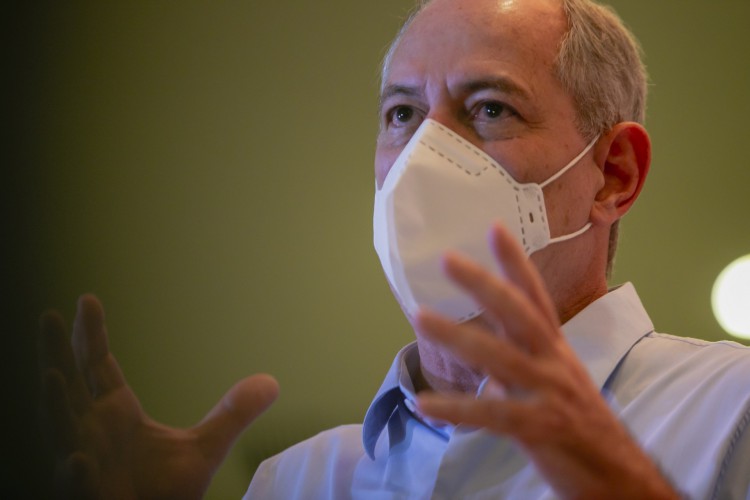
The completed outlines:
<svg viewBox="0 0 750 500">
<path fill-rule="evenodd" d="M 270 375 L 258 374 L 237 382 L 193 430 L 204 454 L 215 465 L 221 463 L 234 441 L 279 394 Z"/>
</svg>

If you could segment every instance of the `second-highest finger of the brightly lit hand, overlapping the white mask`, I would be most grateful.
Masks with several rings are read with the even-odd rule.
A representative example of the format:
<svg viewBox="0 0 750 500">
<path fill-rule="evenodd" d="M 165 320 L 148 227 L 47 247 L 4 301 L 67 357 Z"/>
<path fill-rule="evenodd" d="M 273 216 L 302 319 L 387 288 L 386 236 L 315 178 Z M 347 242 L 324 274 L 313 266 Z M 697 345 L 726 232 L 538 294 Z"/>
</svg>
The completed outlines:
<svg viewBox="0 0 750 500">
<path fill-rule="evenodd" d="M 511 339 L 532 353 L 544 349 L 549 324 L 519 288 L 456 252 L 446 254 L 444 265 L 450 278 L 471 294 L 494 321 L 502 323 Z"/>
</svg>

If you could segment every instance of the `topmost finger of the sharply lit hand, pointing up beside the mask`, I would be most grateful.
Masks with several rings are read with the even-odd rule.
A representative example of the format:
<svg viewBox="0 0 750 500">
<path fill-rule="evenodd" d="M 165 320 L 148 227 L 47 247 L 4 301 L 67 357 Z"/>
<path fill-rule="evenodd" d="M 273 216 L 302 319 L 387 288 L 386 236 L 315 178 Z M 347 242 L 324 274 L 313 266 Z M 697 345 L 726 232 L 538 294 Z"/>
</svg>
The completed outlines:
<svg viewBox="0 0 750 500">
<path fill-rule="evenodd" d="M 500 262 L 505 277 L 528 296 L 547 317 L 550 325 L 558 327 L 557 309 L 547 293 L 544 281 L 523 248 L 502 224 L 495 224 L 490 232 L 490 247 Z"/>
</svg>

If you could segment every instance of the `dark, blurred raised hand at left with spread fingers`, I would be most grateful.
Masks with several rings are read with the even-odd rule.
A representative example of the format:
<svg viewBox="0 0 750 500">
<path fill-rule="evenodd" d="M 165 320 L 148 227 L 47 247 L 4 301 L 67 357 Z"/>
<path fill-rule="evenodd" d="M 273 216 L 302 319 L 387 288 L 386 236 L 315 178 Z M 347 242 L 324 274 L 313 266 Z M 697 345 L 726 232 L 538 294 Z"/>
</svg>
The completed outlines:
<svg viewBox="0 0 750 500">
<path fill-rule="evenodd" d="M 72 345 L 62 317 L 41 320 L 45 414 L 57 452 L 61 498 L 200 498 L 240 433 L 278 395 L 254 375 L 234 385 L 204 419 L 173 429 L 143 411 L 109 352 L 104 309 L 78 301 Z"/>
</svg>

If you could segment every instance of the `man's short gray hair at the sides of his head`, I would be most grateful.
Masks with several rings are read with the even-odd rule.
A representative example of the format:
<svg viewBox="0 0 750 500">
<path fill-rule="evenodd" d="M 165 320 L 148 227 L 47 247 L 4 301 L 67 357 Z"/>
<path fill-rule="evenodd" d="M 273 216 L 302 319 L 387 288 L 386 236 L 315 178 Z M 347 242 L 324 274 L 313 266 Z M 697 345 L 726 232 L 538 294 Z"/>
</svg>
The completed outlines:
<svg viewBox="0 0 750 500">
<path fill-rule="evenodd" d="M 383 58 L 381 86 L 401 38 L 430 1 L 418 0 L 391 42 Z M 592 0 L 560 2 L 568 29 L 560 42 L 554 70 L 573 99 L 578 131 L 591 140 L 623 121 L 643 124 L 648 76 L 638 41 L 611 7 Z M 608 276 L 617 249 L 618 222 L 610 230 Z"/>
</svg>

